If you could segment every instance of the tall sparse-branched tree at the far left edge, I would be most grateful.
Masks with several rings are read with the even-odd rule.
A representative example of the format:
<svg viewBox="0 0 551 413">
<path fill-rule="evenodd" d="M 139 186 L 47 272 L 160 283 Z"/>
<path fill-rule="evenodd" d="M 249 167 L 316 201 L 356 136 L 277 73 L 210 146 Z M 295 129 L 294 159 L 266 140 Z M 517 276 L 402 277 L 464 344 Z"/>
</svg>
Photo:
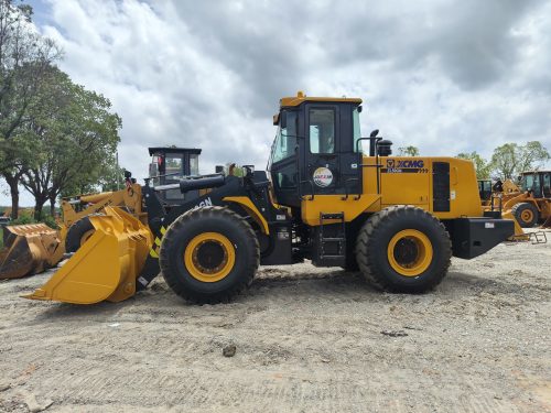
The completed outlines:
<svg viewBox="0 0 551 413">
<path fill-rule="evenodd" d="M 55 43 L 31 24 L 32 8 L 0 0 L 0 175 L 10 187 L 12 217 L 19 211 L 19 182 L 32 160 L 20 127 L 50 64 L 61 56 Z"/>
</svg>

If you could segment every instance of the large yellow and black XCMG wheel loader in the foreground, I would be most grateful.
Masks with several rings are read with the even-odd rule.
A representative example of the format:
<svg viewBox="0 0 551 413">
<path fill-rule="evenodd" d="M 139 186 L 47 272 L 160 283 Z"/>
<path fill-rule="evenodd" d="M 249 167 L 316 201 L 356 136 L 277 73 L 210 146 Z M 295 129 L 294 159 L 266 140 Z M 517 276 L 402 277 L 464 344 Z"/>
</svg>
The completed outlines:
<svg viewBox="0 0 551 413">
<path fill-rule="evenodd" d="M 162 272 L 181 297 L 220 303 L 245 291 L 259 265 L 303 260 L 357 269 L 383 291 L 422 293 L 452 256 L 475 258 L 514 233 L 512 220 L 483 211 L 472 162 L 391 156 L 378 131 L 361 138 L 360 112 L 358 98 L 282 98 L 267 172 L 147 182 L 148 226 L 106 207 L 90 217 L 91 237 L 26 297 L 118 302 Z M 205 188 L 180 205 L 161 199 Z"/>
</svg>

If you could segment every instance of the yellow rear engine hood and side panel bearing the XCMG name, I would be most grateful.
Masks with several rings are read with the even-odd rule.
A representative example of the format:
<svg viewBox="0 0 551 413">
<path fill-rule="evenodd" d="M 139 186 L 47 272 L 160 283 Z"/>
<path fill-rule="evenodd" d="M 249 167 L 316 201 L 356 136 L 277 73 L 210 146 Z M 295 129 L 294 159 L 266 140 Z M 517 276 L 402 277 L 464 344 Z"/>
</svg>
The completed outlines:
<svg viewBox="0 0 551 413">
<path fill-rule="evenodd" d="M 379 167 L 376 165 L 377 160 Z M 435 162 L 450 165 L 447 211 L 433 208 Z M 476 174 L 471 161 L 456 157 L 364 156 L 363 164 L 363 194 L 314 195 L 314 199 L 311 195 L 305 195 L 301 205 L 303 221 L 311 226 L 320 225 L 320 213 L 323 211 L 344 213 L 345 221 L 348 222 L 363 213 L 376 213 L 391 205 L 414 205 L 439 219 L 483 216 Z M 377 170 L 380 170 L 379 180 Z"/>
</svg>

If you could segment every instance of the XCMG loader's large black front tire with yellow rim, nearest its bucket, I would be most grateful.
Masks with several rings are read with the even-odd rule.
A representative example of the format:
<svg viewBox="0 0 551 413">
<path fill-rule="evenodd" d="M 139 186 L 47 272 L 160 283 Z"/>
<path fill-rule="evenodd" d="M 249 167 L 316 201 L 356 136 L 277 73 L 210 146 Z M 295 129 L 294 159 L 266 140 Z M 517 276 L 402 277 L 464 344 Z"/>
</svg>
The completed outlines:
<svg viewBox="0 0 551 413">
<path fill-rule="evenodd" d="M 186 261 L 188 246 L 192 248 L 197 237 L 207 232 L 228 240 L 229 250 L 207 239 L 192 249 L 193 260 Z M 220 248 L 225 251 L 223 258 L 216 252 Z M 227 268 L 227 257 L 233 253 L 233 267 Z M 216 304 L 230 301 L 250 285 L 260 264 L 260 248 L 255 231 L 242 217 L 227 208 L 204 207 L 190 210 L 172 222 L 163 237 L 159 257 L 164 280 L 177 295 L 192 303 Z M 216 270 L 227 268 L 229 272 L 220 280 L 207 281 L 207 267 L 212 262 L 219 264 Z"/>
</svg>

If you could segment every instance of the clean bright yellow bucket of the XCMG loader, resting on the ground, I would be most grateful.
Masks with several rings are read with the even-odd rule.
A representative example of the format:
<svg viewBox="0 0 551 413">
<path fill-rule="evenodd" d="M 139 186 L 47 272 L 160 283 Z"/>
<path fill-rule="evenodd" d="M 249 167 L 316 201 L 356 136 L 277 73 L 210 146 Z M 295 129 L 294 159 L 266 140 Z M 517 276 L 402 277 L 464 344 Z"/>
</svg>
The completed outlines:
<svg viewBox="0 0 551 413">
<path fill-rule="evenodd" d="M 73 304 L 119 302 L 136 293 L 152 244 L 147 226 L 120 208 L 90 216 L 94 235 L 40 289 L 25 298 Z"/>
</svg>

